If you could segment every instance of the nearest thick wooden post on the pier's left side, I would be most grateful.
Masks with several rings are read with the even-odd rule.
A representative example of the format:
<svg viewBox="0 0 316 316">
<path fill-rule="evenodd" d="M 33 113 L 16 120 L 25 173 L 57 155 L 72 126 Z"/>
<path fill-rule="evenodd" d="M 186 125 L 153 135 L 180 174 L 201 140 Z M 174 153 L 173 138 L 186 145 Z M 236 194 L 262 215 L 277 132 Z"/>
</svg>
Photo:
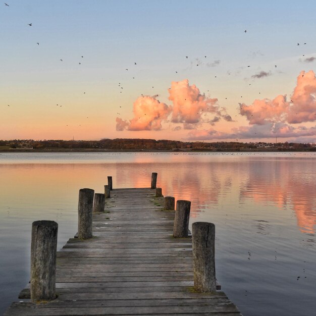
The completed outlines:
<svg viewBox="0 0 316 316">
<path fill-rule="evenodd" d="M 56 298 L 56 250 L 58 224 L 36 221 L 32 224 L 31 299 Z"/>
</svg>

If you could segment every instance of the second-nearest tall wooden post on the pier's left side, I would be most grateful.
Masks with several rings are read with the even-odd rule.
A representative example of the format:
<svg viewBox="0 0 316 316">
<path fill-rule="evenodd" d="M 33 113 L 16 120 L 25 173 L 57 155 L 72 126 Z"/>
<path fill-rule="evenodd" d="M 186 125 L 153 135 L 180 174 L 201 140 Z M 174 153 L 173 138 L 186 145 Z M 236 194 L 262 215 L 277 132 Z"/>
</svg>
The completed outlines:
<svg viewBox="0 0 316 316">
<path fill-rule="evenodd" d="M 94 190 L 80 189 L 78 203 L 78 238 L 92 238 L 92 209 Z"/>
</svg>

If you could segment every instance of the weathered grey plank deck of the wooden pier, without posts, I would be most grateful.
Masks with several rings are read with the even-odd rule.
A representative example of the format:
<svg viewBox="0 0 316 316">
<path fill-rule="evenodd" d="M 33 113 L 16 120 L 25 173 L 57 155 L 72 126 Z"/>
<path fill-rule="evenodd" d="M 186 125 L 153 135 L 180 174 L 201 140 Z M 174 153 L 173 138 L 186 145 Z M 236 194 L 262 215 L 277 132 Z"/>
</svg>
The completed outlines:
<svg viewBox="0 0 316 316">
<path fill-rule="evenodd" d="M 5 316 L 241 315 L 224 292 L 197 293 L 191 238 L 174 238 L 174 210 L 149 188 L 114 189 L 93 237 L 57 252 L 55 300 L 32 302 L 30 288 Z"/>
</svg>

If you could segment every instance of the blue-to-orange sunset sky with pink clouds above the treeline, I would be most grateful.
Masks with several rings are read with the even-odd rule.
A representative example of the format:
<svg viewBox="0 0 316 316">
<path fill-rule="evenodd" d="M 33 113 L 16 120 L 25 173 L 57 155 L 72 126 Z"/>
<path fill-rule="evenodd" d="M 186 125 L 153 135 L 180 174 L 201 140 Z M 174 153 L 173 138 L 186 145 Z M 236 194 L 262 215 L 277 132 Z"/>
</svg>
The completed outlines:
<svg viewBox="0 0 316 316">
<path fill-rule="evenodd" d="M 314 1 L 6 4 L 0 139 L 316 141 Z"/>
</svg>

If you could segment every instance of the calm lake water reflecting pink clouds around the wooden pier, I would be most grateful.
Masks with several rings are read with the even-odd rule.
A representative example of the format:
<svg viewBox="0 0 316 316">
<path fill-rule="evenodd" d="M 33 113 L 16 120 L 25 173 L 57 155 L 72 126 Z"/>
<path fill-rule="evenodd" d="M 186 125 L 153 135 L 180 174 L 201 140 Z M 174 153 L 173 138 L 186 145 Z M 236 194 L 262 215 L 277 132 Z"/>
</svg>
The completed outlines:
<svg viewBox="0 0 316 316">
<path fill-rule="evenodd" d="M 149 187 L 216 225 L 216 272 L 248 315 L 316 313 L 316 153 L 0 153 L 0 314 L 29 281 L 31 224 L 77 231 L 80 188 Z"/>
</svg>

